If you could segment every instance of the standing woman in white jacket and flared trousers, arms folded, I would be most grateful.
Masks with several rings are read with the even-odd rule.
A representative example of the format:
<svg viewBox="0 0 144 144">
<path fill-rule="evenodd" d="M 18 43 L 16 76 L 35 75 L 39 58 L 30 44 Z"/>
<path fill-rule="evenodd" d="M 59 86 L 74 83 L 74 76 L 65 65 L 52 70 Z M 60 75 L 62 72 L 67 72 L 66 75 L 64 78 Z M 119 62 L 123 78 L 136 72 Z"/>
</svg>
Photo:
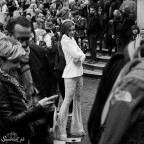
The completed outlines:
<svg viewBox="0 0 144 144">
<path fill-rule="evenodd" d="M 69 105 L 73 100 L 73 113 L 71 123 L 71 134 L 84 136 L 85 131 L 82 124 L 81 96 L 83 92 L 83 66 L 85 54 L 74 40 L 75 25 L 71 20 L 65 20 L 60 29 L 60 42 L 64 52 L 66 67 L 62 77 L 65 81 L 65 99 L 62 103 L 55 138 L 67 139 L 66 126 L 68 120 Z"/>
</svg>

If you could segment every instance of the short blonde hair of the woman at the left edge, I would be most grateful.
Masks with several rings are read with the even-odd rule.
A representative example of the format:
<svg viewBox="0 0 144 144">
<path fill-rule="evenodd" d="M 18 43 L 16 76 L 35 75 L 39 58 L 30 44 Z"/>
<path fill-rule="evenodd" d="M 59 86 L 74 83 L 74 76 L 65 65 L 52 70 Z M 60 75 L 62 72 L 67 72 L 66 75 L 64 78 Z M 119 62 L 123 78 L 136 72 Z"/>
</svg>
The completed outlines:
<svg viewBox="0 0 144 144">
<path fill-rule="evenodd" d="M 9 36 L 0 37 L 0 57 L 13 60 L 25 54 L 20 42 Z"/>
</svg>

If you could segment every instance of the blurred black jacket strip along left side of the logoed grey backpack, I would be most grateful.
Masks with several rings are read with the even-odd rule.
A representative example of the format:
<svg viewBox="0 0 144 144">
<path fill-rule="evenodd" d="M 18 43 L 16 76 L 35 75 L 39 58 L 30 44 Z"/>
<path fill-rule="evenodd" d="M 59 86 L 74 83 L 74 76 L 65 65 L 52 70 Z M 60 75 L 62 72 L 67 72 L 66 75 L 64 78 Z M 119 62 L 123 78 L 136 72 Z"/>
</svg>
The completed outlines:
<svg viewBox="0 0 144 144">
<path fill-rule="evenodd" d="M 100 122 L 103 107 L 113 84 L 125 63 L 123 53 L 116 53 L 112 56 L 103 71 L 103 76 L 101 78 L 88 120 L 88 132 L 92 144 L 96 144 L 99 140 L 99 136 L 101 134 Z"/>
</svg>

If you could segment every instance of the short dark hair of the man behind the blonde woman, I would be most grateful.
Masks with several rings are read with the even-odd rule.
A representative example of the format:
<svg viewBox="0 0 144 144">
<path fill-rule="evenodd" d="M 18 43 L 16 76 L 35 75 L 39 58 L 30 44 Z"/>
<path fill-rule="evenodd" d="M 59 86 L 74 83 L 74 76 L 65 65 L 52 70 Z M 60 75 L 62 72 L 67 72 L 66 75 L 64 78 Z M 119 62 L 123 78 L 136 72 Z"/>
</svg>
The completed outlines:
<svg viewBox="0 0 144 144">
<path fill-rule="evenodd" d="M 6 30 L 10 34 L 13 34 L 16 24 L 19 24 L 19 25 L 26 27 L 26 28 L 31 27 L 31 23 L 29 22 L 29 20 L 26 17 L 19 16 L 19 17 L 12 17 L 8 20 L 7 25 L 6 25 Z"/>
</svg>

